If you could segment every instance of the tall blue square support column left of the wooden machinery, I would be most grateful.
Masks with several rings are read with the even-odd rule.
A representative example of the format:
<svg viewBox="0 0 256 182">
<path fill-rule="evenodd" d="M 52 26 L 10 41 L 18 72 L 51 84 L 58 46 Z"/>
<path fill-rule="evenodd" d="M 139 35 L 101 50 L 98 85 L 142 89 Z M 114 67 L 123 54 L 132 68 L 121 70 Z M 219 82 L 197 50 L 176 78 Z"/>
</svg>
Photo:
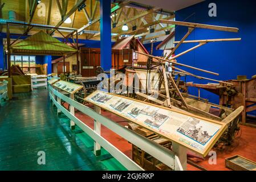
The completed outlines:
<svg viewBox="0 0 256 182">
<path fill-rule="evenodd" d="M 111 69 L 111 0 L 100 0 L 100 66 Z"/>
</svg>

